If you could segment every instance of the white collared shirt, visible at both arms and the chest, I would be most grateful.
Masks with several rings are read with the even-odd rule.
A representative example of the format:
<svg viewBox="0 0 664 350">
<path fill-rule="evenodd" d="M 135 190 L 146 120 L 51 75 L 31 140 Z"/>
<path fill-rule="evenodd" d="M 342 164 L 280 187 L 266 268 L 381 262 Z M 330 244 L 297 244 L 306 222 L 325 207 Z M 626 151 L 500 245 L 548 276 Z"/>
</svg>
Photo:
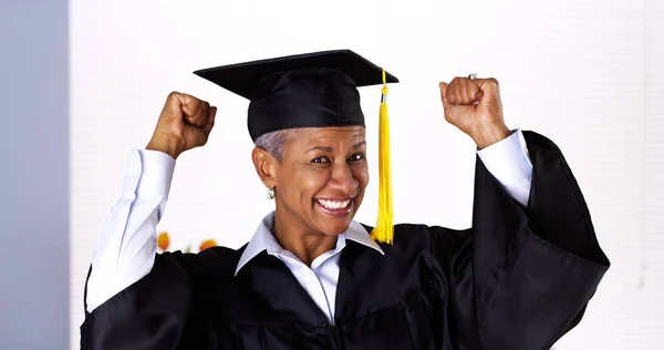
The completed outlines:
<svg viewBox="0 0 664 350">
<path fill-rule="evenodd" d="M 517 131 L 478 151 L 478 155 L 512 198 L 526 206 L 530 195 L 532 164 L 522 133 Z M 111 208 L 97 237 L 87 281 L 87 311 L 92 312 L 152 269 L 157 251 L 156 228 L 166 206 L 174 169 L 175 159 L 162 152 L 134 150 L 129 155 L 123 195 Z M 240 257 L 236 272 L 256 255 L 267 250 L 288 266 L 333 322 L 339 258 L 345 240 L 351 239 L 383 251 L 364 227 L 353 222 L 339 236 L 335 249 L 317 257 L 309 267 L 277 243 L 269 229 L 272 219 L 273 213 L 259 225 Z"/>
</svg>

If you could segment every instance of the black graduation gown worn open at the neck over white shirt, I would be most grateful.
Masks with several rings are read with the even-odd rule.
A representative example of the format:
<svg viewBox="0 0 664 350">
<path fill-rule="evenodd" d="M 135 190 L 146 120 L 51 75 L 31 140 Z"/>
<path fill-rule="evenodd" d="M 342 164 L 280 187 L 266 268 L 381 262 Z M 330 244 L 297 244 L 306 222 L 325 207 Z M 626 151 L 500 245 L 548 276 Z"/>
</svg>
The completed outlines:
<svg viewBox="0 0 664 350">
<path fill-rule="evenodd" d="M 385 255 L 341 254 L 335 326 L 264 251 L 157 255 L 86 313 L 82 349 L 549 349 L 581 320 L 609 268 L 558 147 L 526 132 L 523 208 L 477 161 L 473 228 L 397 225 Z M 370 227 L 367 227 L 371 229 Z"/>
</svg>

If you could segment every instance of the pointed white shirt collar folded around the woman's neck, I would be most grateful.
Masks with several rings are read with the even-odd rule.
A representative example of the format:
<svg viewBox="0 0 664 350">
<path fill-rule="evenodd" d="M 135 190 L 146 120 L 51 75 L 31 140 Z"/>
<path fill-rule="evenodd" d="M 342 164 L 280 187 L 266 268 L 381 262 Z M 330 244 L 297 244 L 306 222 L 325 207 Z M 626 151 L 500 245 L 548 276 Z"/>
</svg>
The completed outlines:
<svg viewBox="0 0 664 350">
<path fill-rule="evenodd" d="M 279 243 L 272 235 L 272 231 L 270 230 L 273 222 L 274 212 L 271 212 L 262 219 L 260 225 L 258 225 L 253 237 L 251 237 L 251 240 L 249 241 L 249 244 L 245 248 L 245 251 L 242 251 L 242 255 L 240 256 L 240 260 L 238 261 L 238 266 L 235 272 L 236 275 L 238 275 L 240 269 L 247 262 L 249 262 L 263 250 L 267 250 L 270 255 L 280 255 L 284 251 L 284 249 L 281 247 L 281 245 L 279 245 Z M 372 248 L 381 253 L 382 255 L 385 255 L 385 253 L 383 253 L 383 249 L 381 249 L 378 244 L 376 244 L 371 238 L 364 226 L 362 226 L 362 224 L 355 220 L 351 222 L 351 225 L 349 226 L 349 229 L 345 233 L 339 235 L 336 239 L 336 251 L 341 251 L 345 247 L 346 239 L 353 240 L 363 246 Z"/>
</svg>

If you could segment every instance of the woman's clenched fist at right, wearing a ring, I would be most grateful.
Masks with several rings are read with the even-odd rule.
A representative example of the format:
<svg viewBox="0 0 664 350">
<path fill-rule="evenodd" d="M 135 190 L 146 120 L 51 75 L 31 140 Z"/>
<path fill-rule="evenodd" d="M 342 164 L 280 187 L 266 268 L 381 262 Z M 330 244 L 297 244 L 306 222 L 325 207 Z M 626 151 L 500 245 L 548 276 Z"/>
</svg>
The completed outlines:
<svg viewBox="0 0 664 350">
<path fill-rule="evenodd" d="M 502 119 L 502 103 L 495 79 L 455 78 L 442 82 L 440 99 L 445 120 L 468 134 L 479 148 L 509 136 Z"/>
</svg>

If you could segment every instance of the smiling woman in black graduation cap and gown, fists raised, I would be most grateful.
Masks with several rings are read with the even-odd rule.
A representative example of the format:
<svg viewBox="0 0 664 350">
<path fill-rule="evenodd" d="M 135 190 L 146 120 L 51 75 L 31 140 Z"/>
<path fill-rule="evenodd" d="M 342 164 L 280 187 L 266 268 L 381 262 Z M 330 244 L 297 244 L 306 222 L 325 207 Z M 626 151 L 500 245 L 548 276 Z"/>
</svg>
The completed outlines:
<svg viewBox="0 0 664 350">
<path fill-rule="evenodd" d="M 510 132 L 495 80 L 440 83 L 445 119 L 479 150 L 473 227 L 401 224 L 378 243 L 353 217 L 369 183 L 356 87 L 380 69 L 336 51 L 198 74 L 251 100 L 276 209 L 238 250 L 156 254 L 175 159 L 217 112 L 172 93 L 102 227 L 83 349 L 532 350 L 581 320 L 609 260 L 560 151 Z"/>
</svg>

